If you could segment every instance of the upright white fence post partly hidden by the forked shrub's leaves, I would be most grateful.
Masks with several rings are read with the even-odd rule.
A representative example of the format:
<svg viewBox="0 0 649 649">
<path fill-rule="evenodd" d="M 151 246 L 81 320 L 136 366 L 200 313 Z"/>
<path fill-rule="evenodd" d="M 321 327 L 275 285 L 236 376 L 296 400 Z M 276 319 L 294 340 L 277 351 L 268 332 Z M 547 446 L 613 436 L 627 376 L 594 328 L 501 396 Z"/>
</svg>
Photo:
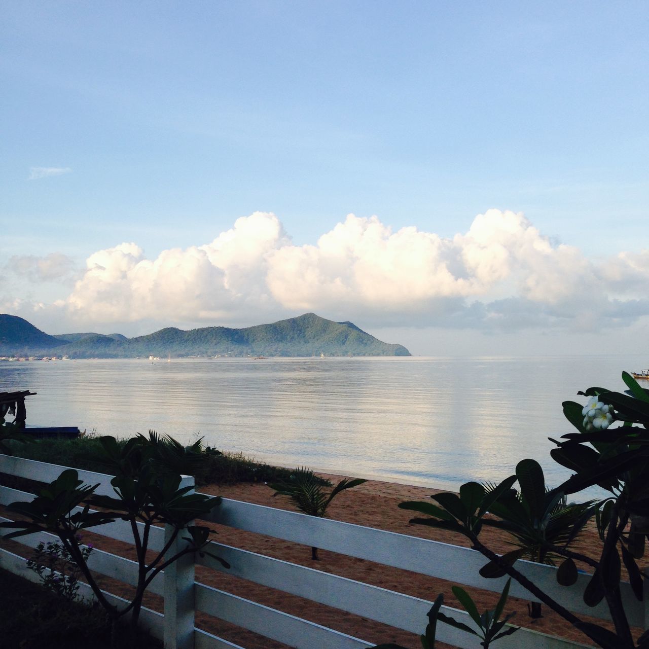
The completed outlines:
<svg viewBox="0 0 649 649">
<path fill-rule="evenodd" d="M 193 486 L 191 476 L 182 476 L 180 487 Z M 193 490 L 188 493 L 193 493 Z M 190 523 L 191 524 L 191 523 Z M 165 525 L 165 544 L 173 527 Z M 173 556 L 187 545 L 181 532 L 167 556 Z M 194 555 L 186 554 L 164 570 L 164 648 L 194 649 Z"/>
</svg>

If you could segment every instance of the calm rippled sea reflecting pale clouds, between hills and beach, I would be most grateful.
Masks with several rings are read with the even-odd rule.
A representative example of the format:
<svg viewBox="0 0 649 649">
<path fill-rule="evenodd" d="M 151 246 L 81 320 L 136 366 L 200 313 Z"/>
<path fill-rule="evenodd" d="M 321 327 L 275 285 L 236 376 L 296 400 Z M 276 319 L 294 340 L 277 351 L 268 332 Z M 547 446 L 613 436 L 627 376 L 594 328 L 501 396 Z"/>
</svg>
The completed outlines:
<svg viewBox="0 0 649 649">
<path fill-rule="evenodd" d="M 568 472 L 547 437 L 561 402 L 624 387 L 636 358 L 79 360 L 0 364 L 0 391 L 30 389 L 27 422 L 126 437 L 153 428 L 280 465 L 450 488 L 534 458 Z M 646 363 L 644 363 L 646 365 Z"/>
</svg>

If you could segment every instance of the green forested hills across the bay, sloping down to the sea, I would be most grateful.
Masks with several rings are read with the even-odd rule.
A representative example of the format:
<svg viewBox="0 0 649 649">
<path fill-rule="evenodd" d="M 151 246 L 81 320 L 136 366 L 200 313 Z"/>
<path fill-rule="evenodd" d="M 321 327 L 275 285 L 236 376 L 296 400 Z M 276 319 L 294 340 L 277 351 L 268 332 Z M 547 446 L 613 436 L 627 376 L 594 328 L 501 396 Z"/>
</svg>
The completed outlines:
<svg viewBox="0 0 649 649">
<path fill-rule="evenodd" d="M 33 343 L 27 343 L 28 339 Z M 0 315 L 0 355 L 38 356 L 45 352 L 51 354 L 53 347 L 56 347 L 57 356 L 70 358 L 136 358 L 167 354 L 175 357 L 410 356 L 402 345 L 383 343 L 355 324 L 326 320 L 315 313 L 243 329 L 210 326 L 184 331 L 167 327 L 135 338 L 92 333 L 47 336 L 22 318 Z"/>
</svg>

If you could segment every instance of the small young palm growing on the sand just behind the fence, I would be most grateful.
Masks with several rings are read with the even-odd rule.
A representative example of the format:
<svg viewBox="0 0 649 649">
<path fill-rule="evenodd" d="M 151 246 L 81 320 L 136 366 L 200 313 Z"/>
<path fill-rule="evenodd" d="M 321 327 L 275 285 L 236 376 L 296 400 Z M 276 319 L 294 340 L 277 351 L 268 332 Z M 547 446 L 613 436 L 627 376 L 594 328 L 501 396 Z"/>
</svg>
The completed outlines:
<svg viewBox="0 0 649 649">
<path fill-rule="evenodd" d="M 275 489 L 273 496 L 288 496 L 290 502 L 299 511 L 309 516 L 323 518 L 329 503 L 344 489 L 356 487 L 367 480 L 343 478 L 330 493 L 324 491 L 324 485 L 311 469 L 296 469 L 288 482 L 273 482 L 268 486 Z M 311 558 L 318 561 L 318 548 L 311 548 Z"/>
</svg>

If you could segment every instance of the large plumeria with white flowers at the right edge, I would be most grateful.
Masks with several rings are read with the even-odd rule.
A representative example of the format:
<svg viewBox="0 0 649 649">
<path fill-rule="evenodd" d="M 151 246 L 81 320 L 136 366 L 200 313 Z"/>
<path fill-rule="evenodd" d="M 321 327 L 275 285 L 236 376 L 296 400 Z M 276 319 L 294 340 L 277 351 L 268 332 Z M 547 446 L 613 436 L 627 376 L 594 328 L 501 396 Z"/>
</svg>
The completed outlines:
<svg viewBox="0 0 649 649">
<path fill-rule="evenodd" d="M 399 506 L 424 515 L 412 523 L 465 535 L 472 548 L 488 560 L 480 570 L 482 576 L 508 575 L 602 649 L 649 649 L 649 630 L 634 635 L 621 590 L 622 581 L 628 580 L 635 597 L 643 600 L 643 576 L 637 562 L 649 538 L 649 390 L 626 372 L 622 380 L 628 387 L 624 393 L 591 387 L 580 392 L 589 397 L 587 404 L 564 402 L 563 412 L 576 432 L 559 440 L 550 438 L 556 445 L 550 455 L 573 474 L 555 489 L 546 490 L 539 463 L 524 459 L 514 475 L 491 489 L 469 482 L 460 487 L 459 495 L 432 496 L 435 504 L 402 502 Z M 607 491 L 606 498 L 583 503 L 571 512 L 571 516 L 578 515 L 572 516 L 559 537 L 549 535 L 548 522 L 557 504 L 565 496 L 594 486 Z M 586 554 L 572 543 L 590 520 L 601 542 Z M 481 536 L 484 526 L 509 532 L 517 549 L 497 554 Z M 516 561 L 532 554 L 553 557 L 561 585 L 576 582 L 577 561 L 589 567 L 591 578 L 583 600 L 588 606 L 606 602 L 614 630 L 578 617 L 522 574 Z"/>
</svg>

